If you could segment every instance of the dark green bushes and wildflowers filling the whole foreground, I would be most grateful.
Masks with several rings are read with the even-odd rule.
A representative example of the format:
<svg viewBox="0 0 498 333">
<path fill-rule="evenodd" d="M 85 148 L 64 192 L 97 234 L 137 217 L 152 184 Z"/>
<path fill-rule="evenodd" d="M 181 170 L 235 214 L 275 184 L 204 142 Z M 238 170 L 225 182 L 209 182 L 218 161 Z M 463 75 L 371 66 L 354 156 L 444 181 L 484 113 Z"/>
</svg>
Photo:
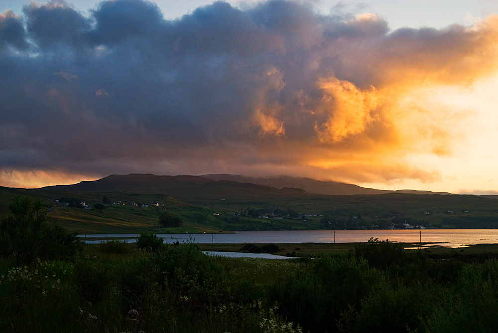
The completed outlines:
<svg viewBox="0 0 498 333">
<path fill-rule="evenodd" d="M 33 212 L 17 218 L 44 225 Z M 2 218 L 2 237 L 20 236 L 6 234 L 15 219 Z M 66 251 L 26 261 L 2 247 L 0 332 L 498 331 L 491 254 L 434 256 L 371 239 L 342 254 L 263 260 L 210 257 L 152 234 L 137 246 L 60 239 L 47 248 Z"/>
</svg>

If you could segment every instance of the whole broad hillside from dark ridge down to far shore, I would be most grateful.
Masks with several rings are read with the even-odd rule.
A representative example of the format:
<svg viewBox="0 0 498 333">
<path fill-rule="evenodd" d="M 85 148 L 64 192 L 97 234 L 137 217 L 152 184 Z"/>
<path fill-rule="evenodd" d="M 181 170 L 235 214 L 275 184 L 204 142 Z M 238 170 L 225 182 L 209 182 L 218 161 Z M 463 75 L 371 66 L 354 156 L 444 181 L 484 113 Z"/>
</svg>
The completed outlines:
<svg viewBox="0 0 498 333">
<path fill-rule="evenodd" d="M 15 195 L 26 194 L 41 197 L 52 207 L 48 213 L 51 221 L 80 233 L 359 229 L 386 228 L 393 223 L 398 227 L 403 227 L 402 223 L 446 228 L 498 226 L 498 200 L 494 197 L 403 193 L 328 196 L 196 176 L 110 176 L 43 189 L 0 188 L 1 212 L 5 214 Z M 93 207 L 102 203 L 104 196 L 120 205 L 83 210 L 55 202 L 74 198 Z M 138 206 L 128 206 L 129 202 Z M 153 202 L 159 206 L 150 206 Z M 160 228 L 158 218 L 165 210 L 183 219 L 183 226 Z M 258 218 L 262 216 L 268 218 Z"/>
</svg>

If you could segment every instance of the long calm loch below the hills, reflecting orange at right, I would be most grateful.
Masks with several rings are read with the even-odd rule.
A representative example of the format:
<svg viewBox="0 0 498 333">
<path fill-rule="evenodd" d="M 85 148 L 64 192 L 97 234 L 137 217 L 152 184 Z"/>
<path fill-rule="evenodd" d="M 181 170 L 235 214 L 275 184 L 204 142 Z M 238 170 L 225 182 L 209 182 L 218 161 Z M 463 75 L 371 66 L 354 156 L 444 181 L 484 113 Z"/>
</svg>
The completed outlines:
<svg viewBox="0 0 498 333">
<path fill-rule="evenodd" d="M 85 237 L 85 235 L 78 235 Z M 87 237 L 138 237 L 139 234 L 93 234 Z M 437 229 L 437 230 L 289 230 L 289 231 L 237 231 L 235 233 L 158 233 L 165 243 L 176 241 L 196 243 L 353 243 L 366 242 L 370 237 L 379 240 L 460 247 L 470 244 L 498 243 L 498 229 Z M 100 240 L 89 240 L 98 243 Z M 129 242 L 133 242 L 130 239 Z"/>
</svg>

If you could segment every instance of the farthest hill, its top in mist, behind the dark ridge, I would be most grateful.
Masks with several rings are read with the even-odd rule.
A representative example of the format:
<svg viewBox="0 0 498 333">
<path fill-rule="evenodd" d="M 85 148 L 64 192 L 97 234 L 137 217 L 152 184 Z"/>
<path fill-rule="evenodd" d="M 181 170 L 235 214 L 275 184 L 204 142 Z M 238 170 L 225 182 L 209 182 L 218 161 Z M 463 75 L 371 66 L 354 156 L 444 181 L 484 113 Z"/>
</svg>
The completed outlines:
<svg viewBox="0 0 498 333">
<path fill-rule="evenodd" d="M 340 182 L 324 182 L 305 177 L 289 177 L 278 176 L 269 178 L 253 178 L 248 176 L 237 176 L 230 174 L 209 174 L 205 176 L 208 179 L 220 181 L 230 180 L 239 183 L 253 183 L 259 185 L 266 185 L 281 189 L 284 187 L 300 188 L 308 193 L 325 194 L 325 195 L 357 195 L 357 194 L 386 194 L 386 193 L 407 193 L 407 194 L 450 194 L 448 192 L 431 192 L 431 191 L 416 191 L 416 190 L 376 190 L 361 187 L 354 184 L 340 183 Z"/>
</svg>

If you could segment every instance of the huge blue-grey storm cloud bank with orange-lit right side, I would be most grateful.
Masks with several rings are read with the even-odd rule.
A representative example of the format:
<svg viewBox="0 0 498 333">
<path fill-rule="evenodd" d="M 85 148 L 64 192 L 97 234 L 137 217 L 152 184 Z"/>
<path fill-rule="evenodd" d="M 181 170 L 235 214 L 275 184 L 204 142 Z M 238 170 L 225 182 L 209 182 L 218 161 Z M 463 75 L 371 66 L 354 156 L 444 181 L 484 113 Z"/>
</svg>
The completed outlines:
<svg viewBox="0 0 498 333">
<path fill-rule="evenodd" d="M 390 32 L 372 14 L 321 15 L 290 1 L 214 2 L 175 21 L 141 0 L 104 1 L 87 16 L 64 1 L 23 13 L 0 15 L 8 172 L 358 166 L 366 152 L 402 151 L 414 139 L 395 137 L 392 87 L 464 84 L 496 67 L 493 19 Z M 362 179 L 386 168 L 370 165 Z"/>
</svg>

